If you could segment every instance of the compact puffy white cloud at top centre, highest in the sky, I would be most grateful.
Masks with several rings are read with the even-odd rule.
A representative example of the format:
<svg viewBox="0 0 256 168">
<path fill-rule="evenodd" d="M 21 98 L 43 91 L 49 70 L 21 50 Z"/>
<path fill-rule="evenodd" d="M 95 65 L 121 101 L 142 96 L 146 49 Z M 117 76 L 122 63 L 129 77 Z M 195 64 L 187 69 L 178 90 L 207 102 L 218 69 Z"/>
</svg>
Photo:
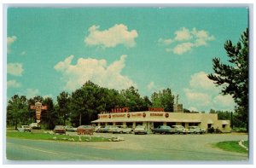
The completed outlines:
<svg viewBox="0 0 256 168">
<path fill-rule="evenodd" d="M 123 24 L 114 25 L 108 30 L 99 31 L 100 26 L 91 26 L 88 29 L 89 35 L 84 38 L 84 43 L 89 46 L 115 47 L 118 44 L 124 44 L 125 47 L 134 47 L 138 34 L 136 30 L 128 31 L 127 26 Z"/>
</svg>

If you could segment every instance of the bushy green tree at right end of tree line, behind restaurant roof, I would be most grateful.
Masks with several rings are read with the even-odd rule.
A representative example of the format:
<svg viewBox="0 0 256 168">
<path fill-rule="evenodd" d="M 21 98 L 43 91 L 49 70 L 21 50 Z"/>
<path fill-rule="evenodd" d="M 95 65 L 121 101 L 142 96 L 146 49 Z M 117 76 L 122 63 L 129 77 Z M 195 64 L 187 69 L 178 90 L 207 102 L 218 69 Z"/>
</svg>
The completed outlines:
<svg viewBox="0 0 256 168">
<path fill-rule="evenodd" d="M 171 89 L 154 92 L 151 100 L 153 107 L 163 107 L 166 112 L 173 112 L 174 95 L 172 95 Z"/>
</svg>

